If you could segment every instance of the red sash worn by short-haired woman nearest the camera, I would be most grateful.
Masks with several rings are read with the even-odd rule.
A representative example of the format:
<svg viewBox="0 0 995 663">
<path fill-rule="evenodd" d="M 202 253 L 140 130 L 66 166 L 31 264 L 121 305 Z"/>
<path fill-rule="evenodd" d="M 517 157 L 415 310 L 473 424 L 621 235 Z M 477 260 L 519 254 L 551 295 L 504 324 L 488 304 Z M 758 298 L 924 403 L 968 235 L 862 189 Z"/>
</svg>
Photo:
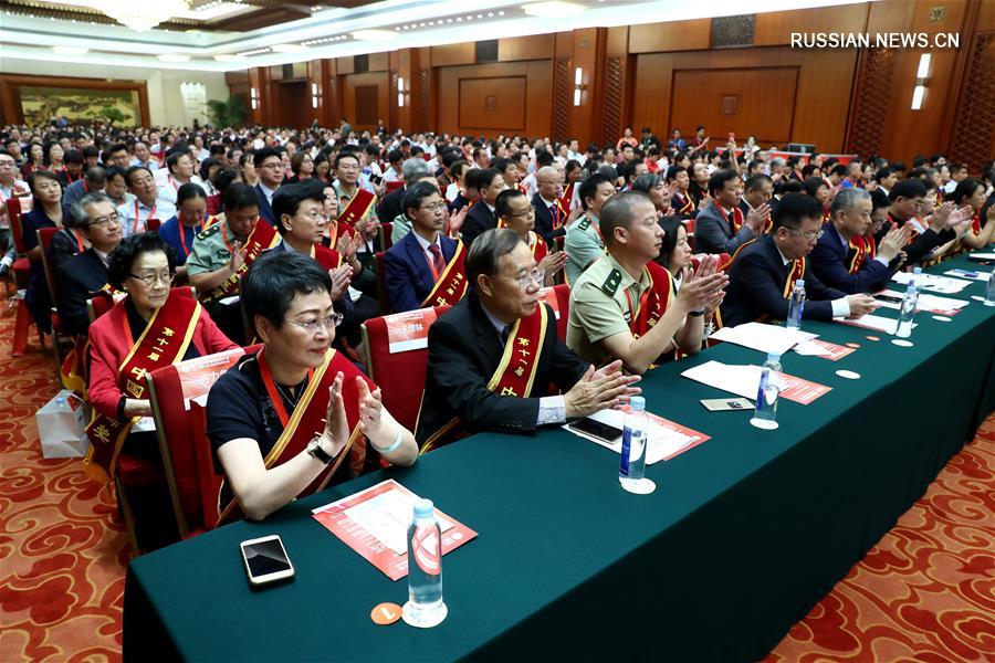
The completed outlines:
<svg viewBox="0 0 995 663">
<path fill-rule="evenodd" d="M 277 467 L 289 460 L 295 457 L 307 446 L 307 443 L 322 434 L 325 430 L 325 413 L 328 409 L 328 388 L 335 381 L 335 376 L 339 371 L 342 361 L 346 359 L 334 350 L 328 349 L 325 354 L 325 361 L 308 376 L 307 386 L 301 393 L 301 400 L 297 401 L 294 411 L 287 414 L 283 407 L 283 399 L 276 391 L 276 383 L 270 372 L 270 367 L 265 360 L 265 348 L 256 355 L 259 361 L 259 372 L 262 376 L 263 385 L 280 423 L 283 424 L 283 433 L 276 440 L 273 449 L 263 459 L 266 470 Z M 350 371 L 349 371 L 350 372 Z M 362 375 L 362 373 L 360 373 Z M 365 378 L 365 376 L 363 376 Z M 376 389 L 376 385 L 366 379 L 370 391 Z M 342 382 L 342 399 L 346 411 L 346 425 L 349 429 L 349 441 L 346 443 L 336 460 L 322 471 L 317 477 L 311 482 L 304 491 L 298 495 L 310 495 L 322 491 L 328 481 L 342 465 L 343 461 L 349 459 L 349 467 L 355 474 L 363 471 L 363 464 L 366 460 L 366 438 L 359 432 L 359 389 L 356 387 L 355 379 L 345 379 Z M 222 504 L 222 494 L 224 492 L 224 480 L 221 481 L 218 491 L 218 520 L 223 524 L 241 517 L 242 511 L 237 499 L 228 499 Z"/>
</svg>

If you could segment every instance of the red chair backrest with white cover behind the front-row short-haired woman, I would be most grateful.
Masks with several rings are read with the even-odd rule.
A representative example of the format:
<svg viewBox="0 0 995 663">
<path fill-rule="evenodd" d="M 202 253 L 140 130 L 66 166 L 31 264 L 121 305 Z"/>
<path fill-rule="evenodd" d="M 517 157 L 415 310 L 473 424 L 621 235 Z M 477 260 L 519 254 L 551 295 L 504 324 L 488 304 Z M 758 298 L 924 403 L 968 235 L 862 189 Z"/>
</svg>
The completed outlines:
<svg viewBox="0 0 995 663">
<path fill-rule="evenodd" d="M 214 474 L 210 443 L 203 436 L 203 427 L 193 427 L 193 418 L 203 415 L 202 409 L 193 410 L 191 400 L 201 403 L 211 386 L 248 352 L 261 346 L 237 348 L 206 357 L 180 361 L 154 370 L 148 375 L 149 401 L 156 420 L 156 435 L 163 454 L 166 483 L 176 513 L 180 536 L 207 529 L 201 495 L 201 464 Z M 195 430 L 199 430 L 196 433 Z M 207 454 L 205 456 L 203 449 Z M 205 460 L 206 457 L 206 460 Z"/>
</svg>

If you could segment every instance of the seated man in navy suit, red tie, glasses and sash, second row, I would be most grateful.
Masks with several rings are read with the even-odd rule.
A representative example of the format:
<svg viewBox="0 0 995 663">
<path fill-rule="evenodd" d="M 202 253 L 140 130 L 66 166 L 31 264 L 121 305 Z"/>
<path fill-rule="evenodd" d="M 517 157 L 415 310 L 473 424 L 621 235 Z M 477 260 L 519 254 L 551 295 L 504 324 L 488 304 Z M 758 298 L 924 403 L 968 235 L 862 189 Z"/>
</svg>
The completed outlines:
<svg viewBox="0 0 995 663">
<path fill-rule="evenodd" d="M 455 304 L 467 293 L 462 242 L 442 234 L 446 200 L 429 181 L 411 185 L 401 203 L 411 232 L 390 248 L 384 272 L 395 313 Z"/>
</svg>

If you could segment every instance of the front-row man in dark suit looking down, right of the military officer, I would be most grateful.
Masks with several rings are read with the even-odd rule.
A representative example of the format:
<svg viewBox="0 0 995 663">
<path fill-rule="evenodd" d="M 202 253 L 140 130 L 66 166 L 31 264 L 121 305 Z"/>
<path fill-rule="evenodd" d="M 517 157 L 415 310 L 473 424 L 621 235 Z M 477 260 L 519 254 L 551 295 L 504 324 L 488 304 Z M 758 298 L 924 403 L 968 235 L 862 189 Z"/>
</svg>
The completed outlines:
<svg viewBox="0 0 995 663">
<path fill-rule="evenodd" d="M 722 325 L 786 319 L 788 298 L 799 278 L 805 280 L 805 319 L 859 318 L 877 308 L 870 295 L 847 295 L 828 287 L 809 269 L 808 254 L 823 235 L 821 228 L 818 200 L 803 193 L 785 194 L 771 232 L 744 248 L 729 269 L 729 287 L 720 308 Z"/>
</svg>

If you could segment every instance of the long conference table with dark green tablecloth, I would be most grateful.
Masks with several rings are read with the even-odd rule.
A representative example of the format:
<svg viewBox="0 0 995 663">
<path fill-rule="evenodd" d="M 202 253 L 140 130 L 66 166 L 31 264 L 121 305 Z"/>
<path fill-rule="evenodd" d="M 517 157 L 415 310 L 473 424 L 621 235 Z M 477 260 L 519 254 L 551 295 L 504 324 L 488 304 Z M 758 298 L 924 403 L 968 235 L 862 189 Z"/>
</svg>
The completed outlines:
<svg viewBox="0 0 995 663">
<path fill-rule="evenodd" d="M 953 267 L 992 270 L 959 257 L 928 272 Z M 972 295 L 983 282 L 950 296 Z M 784 356 L 785 372 L 832 390 L 808 406 L 782 399 L 776 431 L 747 412 L 708 412 L 700 399 L 726 393 L 679 377 L 709 359 L 761 364 L 755 350 L 721 344 L 650 371 L 647 409 L 711 439 L 649 466 L 649 496 L 620 490 L 617 454 L 559 428 L 488 433 L 139 557 L 125 659 L 761 659 L 995 410 L 995 307 L 971 301 L 951 322 L 920 312 L 917 323 L 911 348 L 806 323 L 860 347 L 838 361 Z M 443 558 L 449 617 L 434 629 L 374 624 L 376 604 L 405 602 L 406 579 L 391 582 L 311 516 L 387 477 L 479 533 Z M 253 590 L 239 543 L 269 534 L 296 578 Z"/>
</svg>

